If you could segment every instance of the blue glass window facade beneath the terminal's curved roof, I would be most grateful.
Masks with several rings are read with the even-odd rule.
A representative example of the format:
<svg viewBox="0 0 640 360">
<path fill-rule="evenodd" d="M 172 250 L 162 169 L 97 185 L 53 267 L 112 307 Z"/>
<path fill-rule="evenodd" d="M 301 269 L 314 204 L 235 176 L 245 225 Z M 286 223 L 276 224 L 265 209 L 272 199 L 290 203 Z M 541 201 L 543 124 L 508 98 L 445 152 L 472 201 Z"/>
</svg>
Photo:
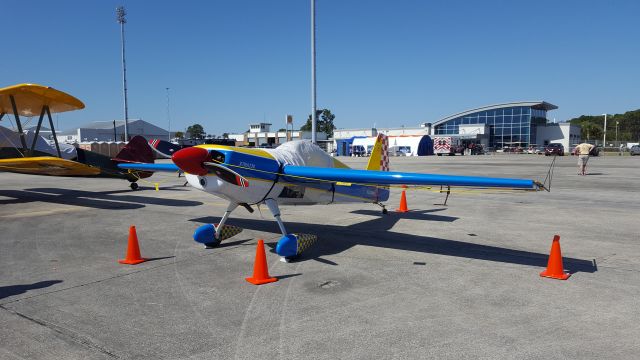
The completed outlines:
<svg viewBox="0 0 640 360">
<path fill-rule="evenodd" d="M 459 134 L 459 125 L 486 124 L 489 127 L 489 146 L 522 146 L 536 144 L 536 125 L 547 122 L 547 111 L 529 106 L 504 107 L 478 111 L 435 125 L 435 135 Z"/>
</svg>

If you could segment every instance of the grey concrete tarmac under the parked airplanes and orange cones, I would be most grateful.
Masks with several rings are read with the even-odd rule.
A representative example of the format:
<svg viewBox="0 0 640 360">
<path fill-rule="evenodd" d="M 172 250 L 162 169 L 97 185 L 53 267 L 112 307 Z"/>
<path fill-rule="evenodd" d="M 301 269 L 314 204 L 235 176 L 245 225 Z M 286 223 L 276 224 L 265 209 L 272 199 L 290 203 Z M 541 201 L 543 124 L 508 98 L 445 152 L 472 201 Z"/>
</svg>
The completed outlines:
<svg viewBox="0 0 640 360">
<path fill-rule="evenodd" d="M 354 168 L 367 159 L 341 158 Z M 398 157 L 393 170 L 544 180 L 536 155 Z M 293 263 L 266 206 L 216 249 L 193 230 L 226 204 L 175 175 L 0 173 L 1 359 L 637 359 L 640 157 L 557 159 L 551 192 L 408 190 L 373 204 L 283 207 L 317 234 Z M 160 183 L 154 191 L 153 182 Z M 388 202 L 398 206 L 400 191 Z M 152 261 L 121 265 L 129 225 Z M 561 236 L 567 281 L 541 278 Z M 254 286 L 257 239 L 271 275 Z"/>
</svg>

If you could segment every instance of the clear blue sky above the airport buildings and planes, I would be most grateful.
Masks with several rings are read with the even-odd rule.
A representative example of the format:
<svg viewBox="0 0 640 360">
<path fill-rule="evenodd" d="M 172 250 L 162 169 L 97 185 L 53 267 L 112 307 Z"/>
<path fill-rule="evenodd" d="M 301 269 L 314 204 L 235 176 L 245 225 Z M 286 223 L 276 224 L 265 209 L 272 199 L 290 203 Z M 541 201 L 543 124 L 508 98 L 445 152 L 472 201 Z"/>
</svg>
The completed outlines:
<svg viewBox="0 0 640 360">
<path fill-rule="evenodd" d="M 39 83 L 123 118 L 117 5 L 128 15 L 129 117 L 172 130 L 296 127 L 311 112 L 310 1 L 2 2 L 0 86 Z M 550 118 L 640 108 L 640 1 L 317 0 L 318 107 L 339 128 L 413 126 L 546 100 Z M 6 126 L 6 122 L 4 125 Z"/>
</svg>

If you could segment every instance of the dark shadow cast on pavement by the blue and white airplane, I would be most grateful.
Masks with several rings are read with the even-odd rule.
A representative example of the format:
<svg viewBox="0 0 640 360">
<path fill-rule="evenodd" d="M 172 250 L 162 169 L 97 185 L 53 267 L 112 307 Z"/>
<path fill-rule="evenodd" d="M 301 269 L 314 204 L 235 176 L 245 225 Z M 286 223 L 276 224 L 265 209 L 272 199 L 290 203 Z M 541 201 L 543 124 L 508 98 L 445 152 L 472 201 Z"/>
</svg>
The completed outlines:
<svg viewBox="0 0 640 360">
<path fill-rule="evenodd" d="M 307 233 L 319 236 L 318 242 L 302 254 L 300 261 L 316 259 L 322 263 L 337 265 L 320 257 L 341 253 L 355 245 L 366 245 L 540 268 L 547 266 L 549 254 L 390 231 L 400 219 L 445 222 L 452 222 L 457 219 L 456 217 L 432 214 L 442 210 L 445 209 L 410 211 L 402 214 L 390 212 L 387 215 L 382 215 L 380 211 L 357 210 L 352 213 L 375 217 L 371 220 L 347 226 L 287 221 L 285 221 L 285 226 L 290 233 Z M 191 219 L 190 221 L 216 223 L 219 220 L 220 218 L 218 217 L 202 217 Z M 232 218 L 229 219 L 228 224 L 240 226 L 244 229 L 279 234 L 278 225 L 274 220 Z M 275 251 L 275 242 L 267 245 L 272 248 L 272 251 Z M 564 257 L 564 267 L 565 270 L 571 273 L 594 273 L 598 270 L 595 260 L 568 257 Z"/>
</svg>

